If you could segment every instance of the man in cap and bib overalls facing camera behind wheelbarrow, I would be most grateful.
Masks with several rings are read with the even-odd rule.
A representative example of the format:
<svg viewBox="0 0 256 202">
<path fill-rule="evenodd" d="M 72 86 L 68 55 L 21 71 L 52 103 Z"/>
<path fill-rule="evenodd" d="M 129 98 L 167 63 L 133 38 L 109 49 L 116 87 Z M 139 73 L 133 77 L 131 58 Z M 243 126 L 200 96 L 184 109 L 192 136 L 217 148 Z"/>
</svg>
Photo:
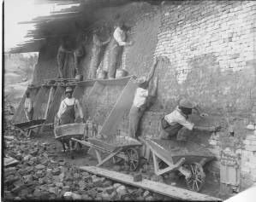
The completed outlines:
<svg viewBox="0 0 256 202">
<path fill-rule="evenodd" d="M 67 95 L 67 97 L 61 102 L 59 111 L 57 113 L 57 124 L 59 125 L 73 124 L 75 119 L 75 109 L 78 110 L 80 114 L 80 118 L 83 121 L 84 114 L 83 114 L 82 108 L 80 107 L 80 103 L 77 99 L 72 97 L 73 89 L 68 86 L 66 88 L 65 94 Z M 65 152 L 66 151 L 65 144 L 67 144 L 69 147 L 69 142 L 66 140 L 62 140 L 61 142 L 63 144 L 63 152 Z M 69 149 L 72 149 L 72 148 L 69 148 Z"/>
</svg>

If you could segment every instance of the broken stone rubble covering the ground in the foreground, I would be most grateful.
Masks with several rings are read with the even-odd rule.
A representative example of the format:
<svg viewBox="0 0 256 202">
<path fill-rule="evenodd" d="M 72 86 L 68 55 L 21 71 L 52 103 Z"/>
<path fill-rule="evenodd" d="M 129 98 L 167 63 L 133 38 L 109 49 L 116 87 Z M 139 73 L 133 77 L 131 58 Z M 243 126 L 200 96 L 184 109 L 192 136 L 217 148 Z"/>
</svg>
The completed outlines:
<svg viewBox="0 0 256 202">
<path fill-rule="evenodd" d="M 80 165 L 95 165 L 97 162 L 81 149 L 71 159 L 62 153 L 60 142 L 52 133 L 32 136 L 26 140 L 9 122 L 5 124 L 5 136 L 15 136 L 6 141 L 4 154 L 20 160 L 19 164 L 3 170 L 4 199 L 97 199 L 97 200 L 170 200 L 169 197 L 134 188 L 107 178 L 95 176 L 77 169 Z M 111 170 L 133 175 L 125 165 L 106 164 Z M 172 176 L 168 180 L 154 176 L 152 166 L 142 166 L 143 178 L 153 181 L 176 183 L 186 188 L 183 179 Z M 209 184 L 211 182 L 211 184 Z M 218 196 L 219 186 L 208 179 L 202 193 Z"/>
</svg>

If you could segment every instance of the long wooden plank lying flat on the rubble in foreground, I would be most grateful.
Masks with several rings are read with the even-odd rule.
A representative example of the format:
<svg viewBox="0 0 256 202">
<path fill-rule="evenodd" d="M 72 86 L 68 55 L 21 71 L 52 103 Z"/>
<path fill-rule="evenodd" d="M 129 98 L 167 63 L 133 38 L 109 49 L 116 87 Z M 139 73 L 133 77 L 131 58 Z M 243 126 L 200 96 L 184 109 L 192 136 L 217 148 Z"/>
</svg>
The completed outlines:
<svg viewBox="0 0 256 202">
<path fill-rule="evenodd" d="M 161 182 L 153 182 L 150 180 L 143 179 L 141 182 L 134 182 L 134 177 L 113 170 L 106 170 L 96 166 L 81 166 L 80 170 L 86 170 L 92 174 L 98 176 L 104 176 L 111 180 L 122 182 L 128 185 L 132 185 L 138 188 L 143 188 L 154 193 L 160 193 L 169 196 L 172 199 L 183 199 L 183 200 L 204 200 L 204 201 L 221 201 L 215 197 L 205 195 L 203 193 L 195 193 L 184 188 L 176 188 Z"/>
</svg>

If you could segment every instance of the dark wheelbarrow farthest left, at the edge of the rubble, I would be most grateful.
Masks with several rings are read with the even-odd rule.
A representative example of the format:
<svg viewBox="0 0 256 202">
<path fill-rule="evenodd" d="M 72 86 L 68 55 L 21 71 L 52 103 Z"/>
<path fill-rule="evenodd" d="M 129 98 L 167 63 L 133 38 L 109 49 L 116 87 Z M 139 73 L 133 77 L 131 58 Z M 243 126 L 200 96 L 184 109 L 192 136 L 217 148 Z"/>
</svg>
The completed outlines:
<svg viewBox="0 0 256 202">
<path fill-rule="evenodd" d="M 30 137 L 31 131 L 35 128 L 38 128 L 36 134 L 39 134 L 39 130 L 41 129 L 43 124 L 45 124 L 45 119 L 37 119 L 37 120 L 32 120 L 32 121 L 27 121 L 22 123 L 16 123 L 13 125 L 15 126 L 15 128 L 18 128 L 19 130 L 21 130 L 21 133 L 24 136 Z"/>
</svg>

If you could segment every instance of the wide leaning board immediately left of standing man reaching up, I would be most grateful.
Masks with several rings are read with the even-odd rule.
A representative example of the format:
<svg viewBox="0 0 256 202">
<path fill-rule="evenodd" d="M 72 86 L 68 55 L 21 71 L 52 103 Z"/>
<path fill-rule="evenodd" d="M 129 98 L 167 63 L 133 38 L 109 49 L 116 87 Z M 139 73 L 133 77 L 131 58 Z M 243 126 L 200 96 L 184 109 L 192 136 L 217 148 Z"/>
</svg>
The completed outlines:
<svg viewBox="0 0 256 202">
<path fill-rule="evenodd" d="M 110 111 L 108 118 L 106 118 L 100 134 L 105 136 L 113 136 L 116 133 L 118 124 L 122 121 L 123 114 L 132 107 L 134 101 L 135 89 L 137 84 L 134 83 L 134 78 L 130 78 L 128 84 L 122 90 L 122 94 L 116 101 L 115 106 Z"/>
</svg>

